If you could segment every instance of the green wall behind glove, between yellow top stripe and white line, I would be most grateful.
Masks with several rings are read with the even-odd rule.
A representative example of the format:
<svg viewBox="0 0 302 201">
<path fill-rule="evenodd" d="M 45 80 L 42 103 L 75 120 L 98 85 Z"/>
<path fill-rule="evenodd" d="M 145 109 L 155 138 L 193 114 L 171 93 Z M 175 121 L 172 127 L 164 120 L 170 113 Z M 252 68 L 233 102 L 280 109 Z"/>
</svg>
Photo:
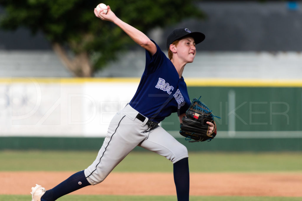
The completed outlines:
<svg viewBox="0 0 302 201">
<path fill-rule="evenodd" d="M 190 98 L 199 98 L 223 131 L 301 131 L 301 87 L 188 87 Z M 166 118 L 166 130 L 178 130 L 176 115 Z M 289 132 L 290 133 L 290 132 Z M 285 133 L 286 135 L 286 133 Z"/>
</svg>

